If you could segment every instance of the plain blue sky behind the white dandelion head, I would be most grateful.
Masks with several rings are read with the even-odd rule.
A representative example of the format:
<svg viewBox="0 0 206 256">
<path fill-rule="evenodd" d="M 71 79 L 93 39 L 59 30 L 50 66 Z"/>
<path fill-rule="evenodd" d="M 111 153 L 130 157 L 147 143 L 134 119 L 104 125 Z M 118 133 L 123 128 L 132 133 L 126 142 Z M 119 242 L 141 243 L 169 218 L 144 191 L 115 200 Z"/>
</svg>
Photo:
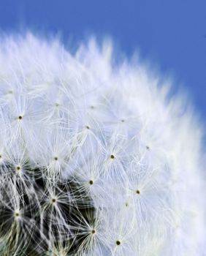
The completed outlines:
<svg viewBox="0 0 206 256">
<path fill-rule="evenodd" d="M 64 42 L 110 35 L 128 56 L 174 75 L 206 120 L 205 0 L 0 0 L 0 29 L 61 32 Z"/>
</svg>

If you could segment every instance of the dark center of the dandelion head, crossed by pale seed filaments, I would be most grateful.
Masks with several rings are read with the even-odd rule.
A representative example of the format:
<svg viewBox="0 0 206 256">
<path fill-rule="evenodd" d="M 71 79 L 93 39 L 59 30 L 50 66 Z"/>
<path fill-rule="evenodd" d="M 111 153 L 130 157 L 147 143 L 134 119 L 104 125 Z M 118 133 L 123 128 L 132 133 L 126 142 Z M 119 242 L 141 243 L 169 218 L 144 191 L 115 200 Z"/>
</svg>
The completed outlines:
<svg viewBox="0 0 206 256">
<path fill-rule="evenodd" d="M 27 173 L 25 180 L 20 171 Z M 72 255 L 95 233 L 89 195 L 79 193 L 68 179 L 49 184 L 43 171 L 28 162 L 22 167 L 1 165 L 0 237 L 7 255 L 59 255 L 61 249 L 63 255 Z M 77 230 L 81 225 L 91 228 Z M 53 252 L 56 247 L 60 252 Z"/>
</svg>

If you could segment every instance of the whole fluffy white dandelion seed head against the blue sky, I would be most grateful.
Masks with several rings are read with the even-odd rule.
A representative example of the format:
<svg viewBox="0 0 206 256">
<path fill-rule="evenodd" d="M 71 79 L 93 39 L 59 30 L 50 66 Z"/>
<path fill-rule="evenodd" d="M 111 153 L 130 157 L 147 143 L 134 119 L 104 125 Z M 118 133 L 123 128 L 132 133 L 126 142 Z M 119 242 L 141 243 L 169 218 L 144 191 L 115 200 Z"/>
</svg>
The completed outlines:
<svg viewBox="0 0 206 256">
<path fill-rule="evenodd" d="M 2 255 L 204 255 L 202 129 L 94 39 L 0 42 Z"/>
</svg>

